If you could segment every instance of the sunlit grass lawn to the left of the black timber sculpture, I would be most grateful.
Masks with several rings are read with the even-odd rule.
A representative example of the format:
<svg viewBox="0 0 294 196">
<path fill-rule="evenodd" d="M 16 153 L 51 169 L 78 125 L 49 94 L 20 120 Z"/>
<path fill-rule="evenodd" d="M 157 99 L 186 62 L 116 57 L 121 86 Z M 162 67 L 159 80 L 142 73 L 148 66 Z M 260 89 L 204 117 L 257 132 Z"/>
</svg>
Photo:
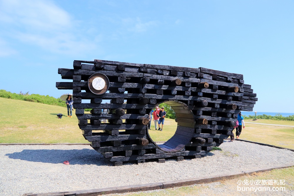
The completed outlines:
<svg viewBox="0 0 294 196">
<path fill-rule="evenodd" d="M 87 143 L 66 106 L 0 98 L 0 143 Z M 65 104 L 64 104 L 65 105 Z M 56 114 L 64 116 L 58 119 Z"/>
</svg>

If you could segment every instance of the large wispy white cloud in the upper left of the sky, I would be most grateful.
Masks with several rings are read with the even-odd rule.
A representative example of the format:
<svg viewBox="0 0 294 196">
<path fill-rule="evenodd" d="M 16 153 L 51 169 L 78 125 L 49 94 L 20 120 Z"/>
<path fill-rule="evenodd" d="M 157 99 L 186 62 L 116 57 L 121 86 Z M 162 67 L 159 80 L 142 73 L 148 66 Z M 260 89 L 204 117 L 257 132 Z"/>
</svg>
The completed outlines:
<svg viewBox="0 0 294 196">
<path fill-rule="evenodd" d="M 0 36 L 7 40 L 72 55 L 96 48 L 95 43 L 76 28 L 80 22 L 49 0 L 0 0 L 0 14 L 0 25 L 5 29 Z"/>
</svg>

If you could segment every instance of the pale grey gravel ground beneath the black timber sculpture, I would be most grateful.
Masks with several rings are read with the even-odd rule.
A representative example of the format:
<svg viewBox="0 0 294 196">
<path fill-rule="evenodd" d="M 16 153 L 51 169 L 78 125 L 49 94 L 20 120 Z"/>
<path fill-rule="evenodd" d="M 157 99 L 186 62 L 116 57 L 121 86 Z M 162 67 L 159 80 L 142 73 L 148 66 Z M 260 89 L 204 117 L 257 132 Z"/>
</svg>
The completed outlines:
<svg viewBox="0 0 294 196">
<path fill-rule="evenodd" d="M 0 145 L 0 195 L 138 185 L 294 164 L 294 152 L 286 149 L 228 140 L 220 148 L 201 159 L 115 167 L 89 145 Z"/>
</svg>

